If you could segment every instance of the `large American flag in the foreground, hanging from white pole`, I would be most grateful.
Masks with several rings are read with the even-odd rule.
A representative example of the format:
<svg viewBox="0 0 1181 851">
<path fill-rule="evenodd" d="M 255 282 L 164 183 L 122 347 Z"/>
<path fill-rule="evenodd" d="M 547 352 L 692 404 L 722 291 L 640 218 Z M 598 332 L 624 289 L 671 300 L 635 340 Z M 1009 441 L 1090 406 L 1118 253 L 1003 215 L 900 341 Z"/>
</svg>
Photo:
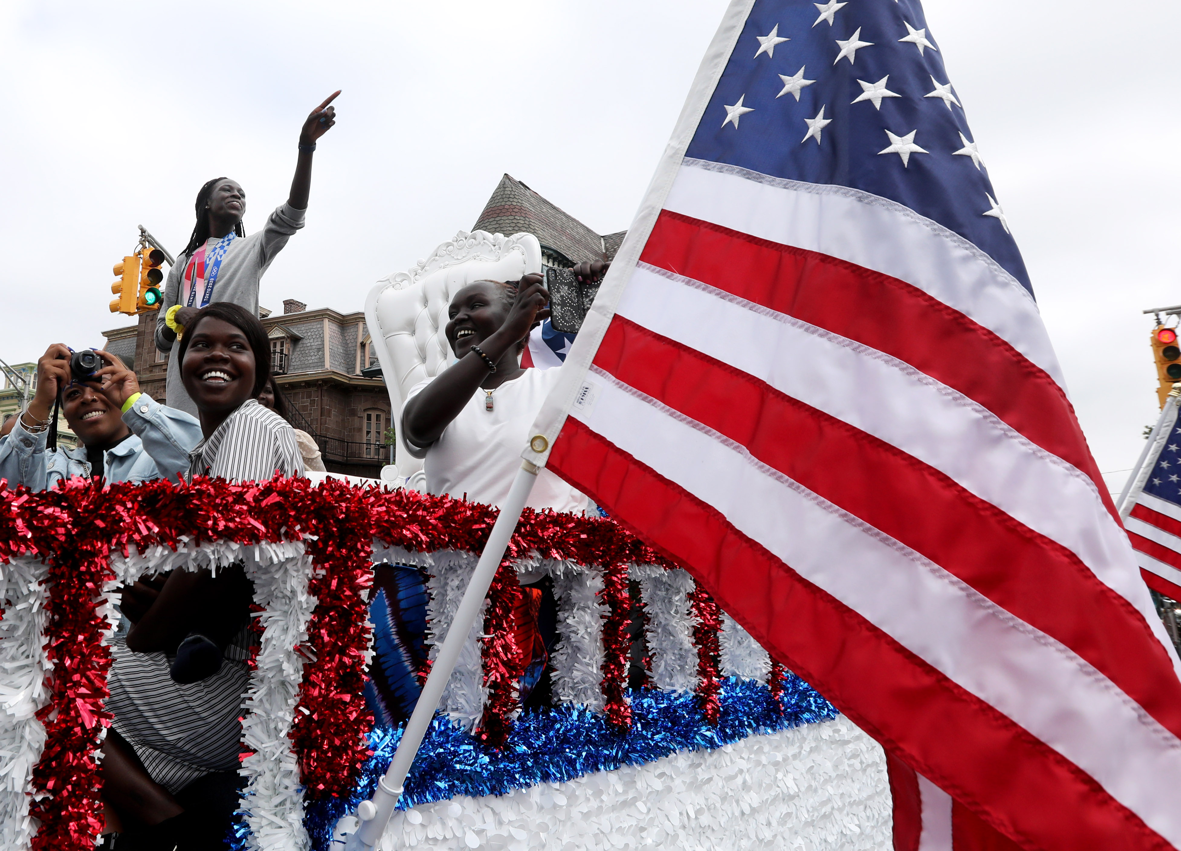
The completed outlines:
<svg viewBox="0 0 1181 851">
<path fill-rule="evenodd" d="M 1181 847 L 1177 660 L 916 0 L 731 4 L 563 372 L 524 457 L 945 833 Z"/>
</svg>

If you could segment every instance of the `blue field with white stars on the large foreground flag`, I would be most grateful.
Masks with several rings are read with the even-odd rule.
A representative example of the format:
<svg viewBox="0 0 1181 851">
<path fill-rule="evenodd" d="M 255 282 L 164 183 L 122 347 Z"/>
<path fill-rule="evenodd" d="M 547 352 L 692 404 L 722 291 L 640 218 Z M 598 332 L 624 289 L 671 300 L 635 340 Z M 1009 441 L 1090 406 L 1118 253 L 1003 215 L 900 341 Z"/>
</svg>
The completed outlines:
<svg viewBox="0 0 1181 851">
<path fill-rule="evenodd" d="M 889 198 L 1032 293 L 942 53 L 909 0 L 756 2 L 685 156 Z"/>
</svg>

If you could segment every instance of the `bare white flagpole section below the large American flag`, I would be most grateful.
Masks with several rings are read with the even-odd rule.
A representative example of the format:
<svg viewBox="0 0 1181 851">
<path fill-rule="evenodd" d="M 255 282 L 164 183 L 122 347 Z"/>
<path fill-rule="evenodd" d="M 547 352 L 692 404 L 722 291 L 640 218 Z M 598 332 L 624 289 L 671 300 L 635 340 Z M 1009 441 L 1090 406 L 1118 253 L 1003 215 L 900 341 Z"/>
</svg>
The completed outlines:
<svg viewBox="0 0 1181 851">
<path fill-rule="evenodd" d="M 347 851 L 368 851 L 381 838 L 385 825 L 389 823 L 390 816 L 393 814 L 393 807 L 398 803 L 398 798 L 402 797 L 403 783 L 406 774 L 410 773 L 410 766 L 418 753 L 418 746 L 430 727 L 431 719 L 435 718 L 435 711 L 443 698 L 443 689 L 459 659 L 459 650 L 463 649 L 463 644 L 468 640 L 471 626 L 479 615 L 479 607 L 488 594 L 488 587 L 496 576 L 496 569 L 504 557 L 509 538 L 513 537 L 513 530 L 516 529 L 517 521 L 521 519 L 521 511 L 529 499 L 539 472 L 541 472 L 541 467 L 534 466 L 529 461 L 522 461 L 516 478 L 513 479 L 513 487 L 509 489 L 509 496 L 501 506 L 496 525 L 492 526 L 492 531 L 488 536 L 488 543 L 484 544 L 484 551 L 471 575 L 471 582 L 468 583 L 468 590 L 464 591 L 463 600 L 459 601 L 459 609 L 455 613 L 455 620 L 443 640 L 443 647 L 439 648 L 438 656 L 431 666 L 431 673 L 426 677 L 426 685 L 423 686 L 423 693 L 418 696 L 415 711 L 406 722 L 406 729 L 402 734 L 402 741 L 398 742 L 398 749 L 393 754 L 393 761 L 390 762 L 390 770 L 385 777 L 378 780 L 373 798 L 361 801 L 357 807 L 357 818 L 360 819 L 361 826 L 348 838 Z"/>
</svg>

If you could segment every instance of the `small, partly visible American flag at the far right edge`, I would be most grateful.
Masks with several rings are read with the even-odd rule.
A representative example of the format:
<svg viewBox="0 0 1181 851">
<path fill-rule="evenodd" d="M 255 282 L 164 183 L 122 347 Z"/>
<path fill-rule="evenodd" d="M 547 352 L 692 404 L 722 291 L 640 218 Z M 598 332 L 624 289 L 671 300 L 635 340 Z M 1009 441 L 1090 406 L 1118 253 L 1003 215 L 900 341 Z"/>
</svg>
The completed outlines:
<svg viewBox="0 0 1181 851">
<path fill-rule="evenodd" d="M 1181 600 L 1181 423 L 1169 397 L 1121 506 L 1144 583 Z"/>
</svg>

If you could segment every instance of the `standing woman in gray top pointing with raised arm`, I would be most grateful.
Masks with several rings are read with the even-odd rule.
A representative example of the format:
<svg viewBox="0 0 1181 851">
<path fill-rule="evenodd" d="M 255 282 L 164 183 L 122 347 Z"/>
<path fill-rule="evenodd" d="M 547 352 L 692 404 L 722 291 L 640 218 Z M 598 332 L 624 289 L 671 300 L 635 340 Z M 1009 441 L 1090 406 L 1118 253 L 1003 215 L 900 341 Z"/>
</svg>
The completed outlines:
<svg viewBox="0 0 1181 851">
<path fill-rule="evenodd" d="M 193 236 L 168 275 L 156 314 L 156 347 L 161 352 L 172 351 L 177 335 L 183 334 L 205 305 L 224 301 L 259 315 L 262 274 L 287 240 L 304 227 L 312 188 L 312 152 L 317 139 L 335 124 L 335 107 L 331 104 L 338 94 L 339 91 L 334 92 L 304 122 L 287 203 L 270 214 L 262 230 L 246 235 L 242 227 L 246 191 L 237 182 L 218 177 L 197 192 Z M 176 358 L 169 359 L 167 387 L 169 405 L 196 415 L 196 405 L 181 380 Z"/>
</svg>

